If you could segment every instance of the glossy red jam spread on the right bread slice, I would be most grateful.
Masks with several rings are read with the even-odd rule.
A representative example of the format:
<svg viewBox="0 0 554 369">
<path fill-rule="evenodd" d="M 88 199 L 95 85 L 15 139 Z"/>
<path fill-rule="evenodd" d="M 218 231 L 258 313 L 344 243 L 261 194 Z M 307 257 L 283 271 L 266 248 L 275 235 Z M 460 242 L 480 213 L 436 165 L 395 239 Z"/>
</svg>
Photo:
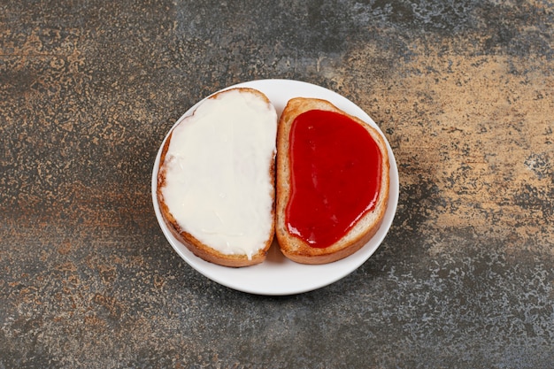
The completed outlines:
<svg viewBox="0 0 554 369">
<path fill-rule="evenodd" d="M 289 139 L 287 227 L 310 246 L 326 248 L 375 207 L 381 151 L 364 127 L 333 111 L 300 114 Z"/>
</svg>

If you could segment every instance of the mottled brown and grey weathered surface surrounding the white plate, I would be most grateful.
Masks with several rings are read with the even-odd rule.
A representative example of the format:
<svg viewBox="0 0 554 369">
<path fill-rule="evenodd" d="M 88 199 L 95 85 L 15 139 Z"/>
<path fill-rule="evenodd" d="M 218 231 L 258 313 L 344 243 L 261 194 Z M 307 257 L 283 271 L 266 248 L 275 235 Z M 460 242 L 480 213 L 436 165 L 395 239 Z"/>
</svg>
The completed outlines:
<svg viewBox="0 0 554 369">
<path fill-rule="evenodd" d="M 0 368 L 551 368 L 554 3 L 4 1 Z M 158 228 L 150 173 L 204 96 L 333 89 L 400 172 L 342 281 L 250 296 Z"/>
</svg>

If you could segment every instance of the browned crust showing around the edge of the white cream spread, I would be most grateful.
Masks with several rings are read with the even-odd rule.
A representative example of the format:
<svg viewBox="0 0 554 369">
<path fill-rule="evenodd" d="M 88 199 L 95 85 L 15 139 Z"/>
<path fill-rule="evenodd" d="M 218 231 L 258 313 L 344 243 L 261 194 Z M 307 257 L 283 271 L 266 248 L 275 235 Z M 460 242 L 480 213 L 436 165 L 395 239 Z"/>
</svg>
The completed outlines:
<svg viewBox="0 0 554 369">
<path fill-rule="evenodd" d="M 218 98 L 221 94 L 225 94 L 228 91 L 239 91 L 241 93 L 250 93 L 258 96 L 258 98 L 263 99 L 266 104 L 270 104 L 271 102 L 263 94 L 262 92 L 258 91 L 254 88 L 230 88 L 224 91 L 220 91 L 208 98 L 215 99 Z M 196 111 L 193 111 L 194 115 Z M 186 121 L 187 118 L 181 120 L 179 124 Z M 158 197 L 158 205 L 160 212 L 162 214 L 162 218 L 165 221 L 165 224 L 170 229 L 173 236 L 182 244 L 184 244 L 187 249 L 189 249 L 193 254 L 195 254 L 198 258 L 203 258 L 205 261 L 211 262 L 213 264 L 217 265 L 223 265 L 223 266 L 230 266 L 230 267 L 242 267 L 242 266 L 250 266 L 250 265 L 257 265 L 259 263 L 262 263 L 265 260 L 265 256 L 267 254 L 267 250 L 269 250 L 272 242 L 273 242 L 273 236 L 274 236 L 274 227 L 275 227 L 275 156 L 273 155 L 273 158 L 271 160 L 271 163 L 268 163 L 268 175 L 269 178 L 272 179 L 272 209 L 271 209 L 271 219 L 272 219 L 272 225 L 271 225 L 271 232 L 267 234 L 266 241 L 264 243 L 264 246 L 258 250 L 258 252 L 251 256 L 249 259 L 246 255 L 227 255 L 222 252 L 219 252 L 219 250 L 215 250 L 210 245 L 206 245 L 203 242 L 200 242 L 196 237 L 192 234 L 189 234 L 187 231 L 181 227 L 176 219 L 173 217 L 173 214 L 169 210 L 168 204 L 165 203 L 164 195 L 162 193 L 162 188 L 165 187 L 165 155 L 167 153 L 167 150 L 169 148 L 169 144 L 171 142 L 172 133 L 170 133 L 167 136 L 167 139 L 165 140 L 164 146 L 162 148 L 162 152 L 160 155 L 159 160 L 159 167 L 158 167 L 158 188 L 157 188 L 157 197 Z"/>
</svg>

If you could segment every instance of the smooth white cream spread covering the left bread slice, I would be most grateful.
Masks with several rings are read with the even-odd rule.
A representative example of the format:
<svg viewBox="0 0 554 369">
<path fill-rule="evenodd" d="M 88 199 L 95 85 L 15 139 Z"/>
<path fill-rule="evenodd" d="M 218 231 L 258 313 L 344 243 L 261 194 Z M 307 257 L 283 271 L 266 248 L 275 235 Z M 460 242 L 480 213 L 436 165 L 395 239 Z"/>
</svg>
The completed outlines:
<svg viewBox="0 0 554 369">
<path fill-rule="evenodd" d="M 179 225 L 219 252 L 251 258 L 272 229 L 277 113 L 229 90 L 173 128 L 165 154 L 165 204 Z"/>
</svg>

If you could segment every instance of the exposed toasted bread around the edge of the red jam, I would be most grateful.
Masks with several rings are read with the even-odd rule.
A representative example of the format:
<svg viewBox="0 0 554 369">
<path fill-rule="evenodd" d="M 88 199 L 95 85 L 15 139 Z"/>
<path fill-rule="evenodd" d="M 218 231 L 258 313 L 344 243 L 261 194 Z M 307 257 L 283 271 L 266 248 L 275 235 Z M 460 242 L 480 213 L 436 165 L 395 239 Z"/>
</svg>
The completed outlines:
<svg viewBox="0 0 554 369">
<path fill-rule="evenodd" d="M 289 134 L 293 121 L 305 111 L 324 110 L 341 113 L 355 120 L 373 137 L 381 151 L 381 190 L 373 211 L 358 219 L 340 240 L 327 248 L 313 248 L 300 238 L 290 234 L 286 224 L 286 209 L 290 197 Z M 341 111 L 326 100 L 296 97 L 281 113 L 277 128 L 277 200 L 275 233 L 281 252 L 301 264 L 327 264 L 346 258 L 361 249 L 381 227 L 389 203 L 389 152 L 381 134 L 357 117 Z"/>
</svg>

